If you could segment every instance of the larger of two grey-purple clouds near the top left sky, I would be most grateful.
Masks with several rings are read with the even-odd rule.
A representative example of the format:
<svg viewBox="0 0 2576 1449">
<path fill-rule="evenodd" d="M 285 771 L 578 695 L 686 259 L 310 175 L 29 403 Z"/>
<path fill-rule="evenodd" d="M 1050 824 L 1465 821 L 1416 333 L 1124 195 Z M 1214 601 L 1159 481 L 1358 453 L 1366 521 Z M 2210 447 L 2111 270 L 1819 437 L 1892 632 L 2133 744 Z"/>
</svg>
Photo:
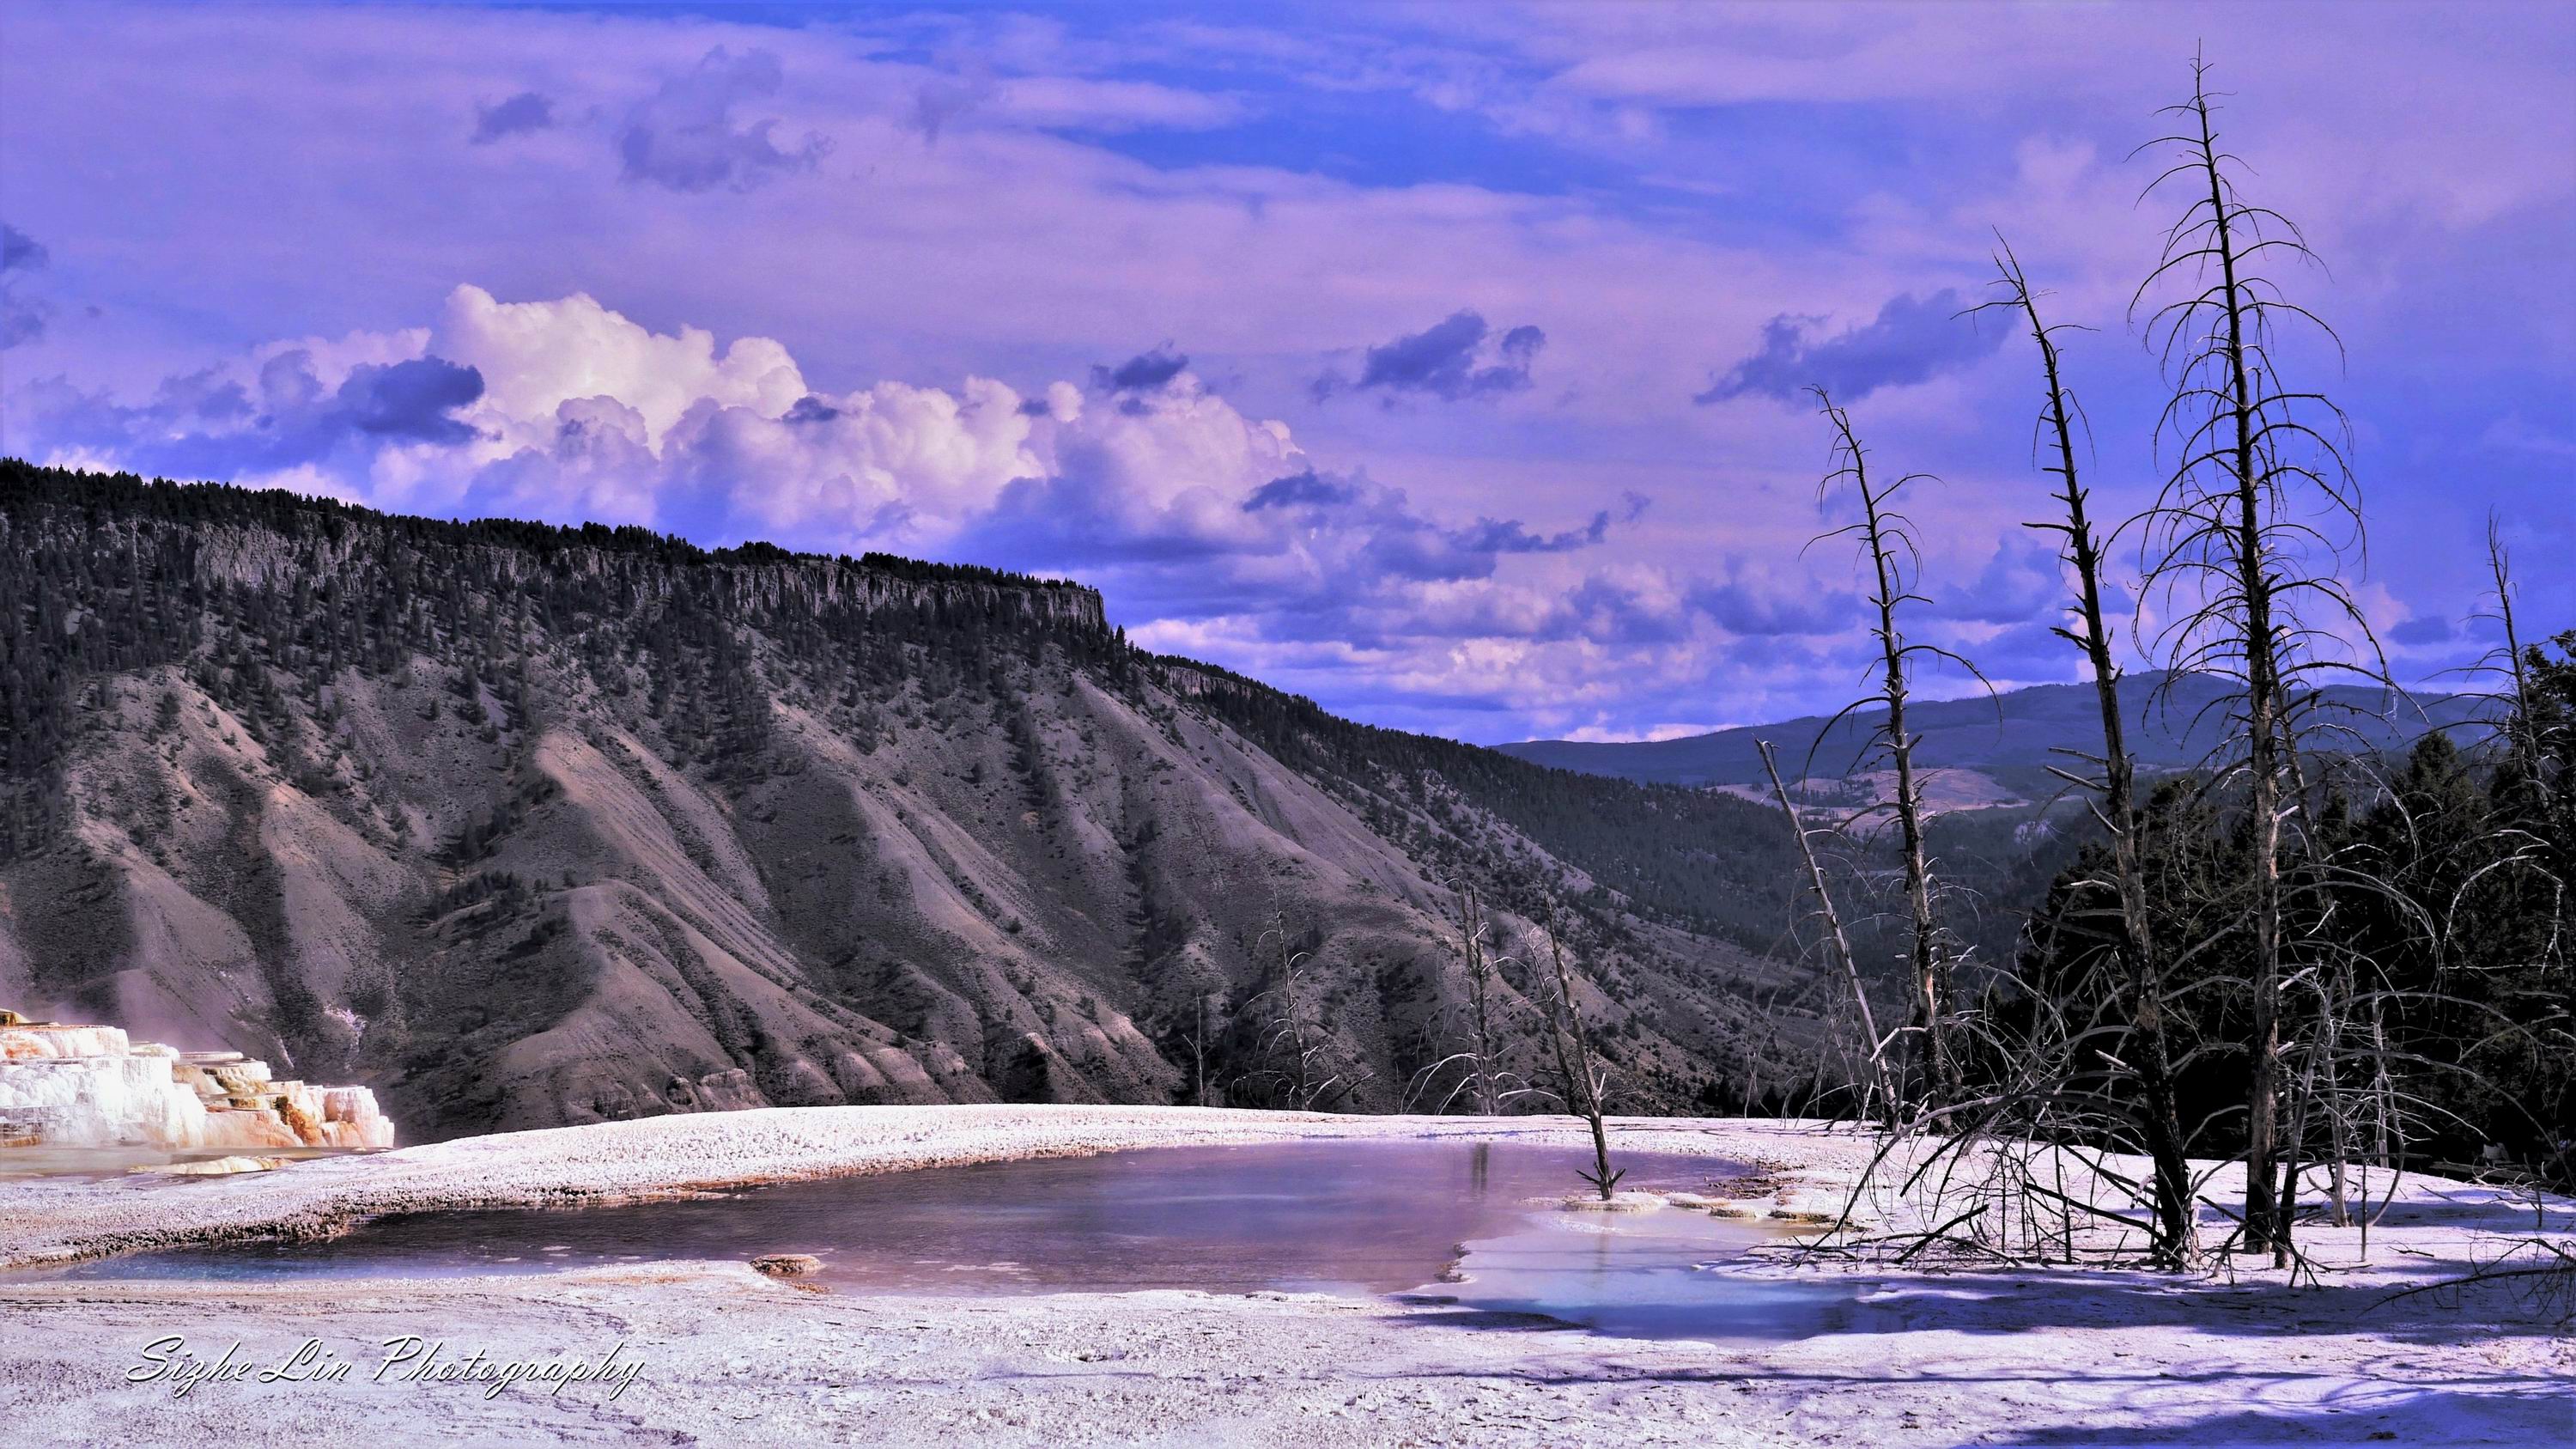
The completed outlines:
<svg viewBox="0 0 2576 1449">
<path fill-rule="evenodd" d="M 778 175 L 811 170 L 829 142 L 809 131 L 793 147 L 775 142 L 778 119 L 734 121 L 734 108 L 778 93 L 786 72 L 770 52 L 706 52 L 639 103 L 618 131 L 626 180 L 672 191 L 750 191 Z"/>
</svg>

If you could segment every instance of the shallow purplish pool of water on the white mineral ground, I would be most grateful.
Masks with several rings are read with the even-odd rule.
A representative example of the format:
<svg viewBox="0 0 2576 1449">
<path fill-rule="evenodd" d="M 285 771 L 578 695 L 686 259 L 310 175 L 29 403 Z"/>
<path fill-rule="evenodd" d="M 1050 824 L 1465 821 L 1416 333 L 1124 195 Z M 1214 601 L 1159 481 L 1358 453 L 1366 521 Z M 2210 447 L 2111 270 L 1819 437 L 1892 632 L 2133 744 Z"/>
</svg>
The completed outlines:
<svg viewBox="0 0 2576 1449">
<path fill-rule="evenodd" d="M 1157 1147 L 781 1183 L 572 1212 L 386 1217 L 330 1243 L 108 1258 L 82 1279 L 438 1276 L 814 1253 L 842 1292 L 1409 1292 L 1494 1323 L 1628 1336 L 1814 1333 L 1847 1294 L 1747 1281 L 1767 1227 L 1564 1212 L 1589 1152 L 1466 1142 Z M 1705 1189 L 1710 1158 L 1620 1155 L 1623 1186 Z M 1533 1201 L 1535 1199 L 1535 1201 Z M 1458 1281 L 1443 1281 L 1443 1279 Z"/>
</svg>

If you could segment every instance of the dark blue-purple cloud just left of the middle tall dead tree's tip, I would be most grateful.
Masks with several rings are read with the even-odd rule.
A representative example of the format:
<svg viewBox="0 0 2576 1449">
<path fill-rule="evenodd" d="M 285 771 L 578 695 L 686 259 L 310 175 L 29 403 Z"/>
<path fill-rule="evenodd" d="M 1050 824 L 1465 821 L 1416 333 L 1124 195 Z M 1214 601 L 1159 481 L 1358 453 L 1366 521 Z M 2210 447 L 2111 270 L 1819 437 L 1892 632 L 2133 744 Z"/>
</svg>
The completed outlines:
<svg viewBox="0 0 2576 1449">
<path fill-rule="evenodd" d="M 1824 387 L 1837 402 L 1860 402 L 1880 387 L 1929 382 L 1958 371 L 2004 340 L 2004 327 L 1971 327 L 1958 289 L 1932 297 L 1893 297 L 1878 317 L 1819 335 L 1821 317 L 1780 315 L 1765 322 L 1762 348 L 1713 376 L 1692 402 L 1728 402 L 1747 394 L 1795 400 Z"/>
</svg>

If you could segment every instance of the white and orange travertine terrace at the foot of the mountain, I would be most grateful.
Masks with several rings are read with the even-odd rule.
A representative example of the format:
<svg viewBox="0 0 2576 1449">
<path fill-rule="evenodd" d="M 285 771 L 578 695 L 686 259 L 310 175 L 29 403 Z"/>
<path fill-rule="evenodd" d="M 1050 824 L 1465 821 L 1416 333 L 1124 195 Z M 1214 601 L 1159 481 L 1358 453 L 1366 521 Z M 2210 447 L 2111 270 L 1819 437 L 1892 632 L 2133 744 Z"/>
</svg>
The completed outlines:
<svg viewBox="0 0 2576 1449">
<path fill-rule="evenodd" d="M 240 1052 L 175 1052 L 118 1026 L 0 1013 L 0 1150 L 392 1145 L 368 1088 L 276 1080 Z"/>
</svg>

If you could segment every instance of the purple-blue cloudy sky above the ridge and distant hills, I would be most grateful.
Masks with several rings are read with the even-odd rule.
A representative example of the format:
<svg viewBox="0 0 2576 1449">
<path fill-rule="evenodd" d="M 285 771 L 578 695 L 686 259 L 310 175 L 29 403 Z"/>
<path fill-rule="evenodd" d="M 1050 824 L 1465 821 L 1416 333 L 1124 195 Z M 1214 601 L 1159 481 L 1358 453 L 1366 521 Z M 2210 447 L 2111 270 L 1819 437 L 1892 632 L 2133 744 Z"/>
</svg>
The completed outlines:
<svg viewBox="0 0 2576 1449">
<path fill-rule="evenodd" d="M 2491 516 L 2576 627 L 2545 3 L 15 3 L 0 451 L 1077 578 L 1347 717 L 1631 740 L 1870 688 L 1826 384 L 1932 474 L 1917 634 L 2074 681 L 2035 348 L 1963 312 L 2009 240 L 2143 508 L 2195 52 L 2339 338 L 2282 351 L 2321 567 L 2409 683 L 2491 642 Z"/>
</svg>

